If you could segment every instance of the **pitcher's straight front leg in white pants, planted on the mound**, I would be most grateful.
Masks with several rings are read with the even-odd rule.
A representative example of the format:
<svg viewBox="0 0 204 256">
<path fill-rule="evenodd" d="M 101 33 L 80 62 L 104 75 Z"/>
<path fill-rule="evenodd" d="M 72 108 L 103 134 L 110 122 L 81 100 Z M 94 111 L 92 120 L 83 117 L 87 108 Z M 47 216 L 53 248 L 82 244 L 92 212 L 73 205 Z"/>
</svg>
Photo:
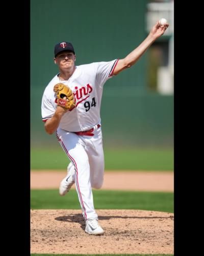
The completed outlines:
<svg viewBox="0 0 204 256">
<path fill-rule="evenodd" d="M 90 183 L 90 166 L 85 144 L 80 137 L 59 129 L 57 138 L 66 155 L 75 167 L 75 186 L 85 220 L 97 218 L 93 205 L 93 195 Z"/>
</svg>

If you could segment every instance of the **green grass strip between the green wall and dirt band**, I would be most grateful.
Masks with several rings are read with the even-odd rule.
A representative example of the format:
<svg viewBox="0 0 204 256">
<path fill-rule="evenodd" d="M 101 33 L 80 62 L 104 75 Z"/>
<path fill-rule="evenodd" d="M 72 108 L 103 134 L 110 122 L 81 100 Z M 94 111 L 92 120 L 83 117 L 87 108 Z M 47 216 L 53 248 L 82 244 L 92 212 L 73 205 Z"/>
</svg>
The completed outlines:
<svg viewBox="0 0 204 256">
<path fill-rule="evenodd" d="M 104 150 L 106 170 L 173 170 L 173 149 Z M 66 169 L 70 160 L 59 148 L 31 149 L 31 169 Z"/>
</svg>

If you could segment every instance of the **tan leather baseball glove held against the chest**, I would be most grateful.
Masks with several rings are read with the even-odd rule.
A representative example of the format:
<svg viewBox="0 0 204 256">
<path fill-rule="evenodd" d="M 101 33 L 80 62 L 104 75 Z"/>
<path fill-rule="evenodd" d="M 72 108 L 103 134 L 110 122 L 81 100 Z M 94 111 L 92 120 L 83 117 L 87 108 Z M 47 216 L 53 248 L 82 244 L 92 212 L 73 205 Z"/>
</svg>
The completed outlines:
<svg viewBox="0 0 204 256">
<path fill-rule="evenodd" d="M 73 92 L 63 83 L 57 83 L 54 86 L 54 92 L 57 93 L 57 105 L 65 109 L 71 110 L 76 106 Z"/>
</svg>

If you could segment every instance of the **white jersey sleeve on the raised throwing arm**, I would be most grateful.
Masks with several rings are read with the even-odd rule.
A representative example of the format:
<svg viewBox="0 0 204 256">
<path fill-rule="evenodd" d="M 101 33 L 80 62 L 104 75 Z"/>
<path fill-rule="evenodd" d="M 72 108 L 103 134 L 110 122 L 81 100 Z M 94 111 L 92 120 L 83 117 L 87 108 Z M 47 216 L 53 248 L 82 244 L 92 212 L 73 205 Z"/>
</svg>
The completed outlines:
<svg viewBox="0 0 204 256">
<path fill-rule="evenodd" d="M 98 62 L 96 80 L 100 86 L 103 86 L 104 83 L 113 76 L 113 71 L 117 66 L 119 59 L 114 59 L 112 61 L 101 61 Z"/>
</svg>

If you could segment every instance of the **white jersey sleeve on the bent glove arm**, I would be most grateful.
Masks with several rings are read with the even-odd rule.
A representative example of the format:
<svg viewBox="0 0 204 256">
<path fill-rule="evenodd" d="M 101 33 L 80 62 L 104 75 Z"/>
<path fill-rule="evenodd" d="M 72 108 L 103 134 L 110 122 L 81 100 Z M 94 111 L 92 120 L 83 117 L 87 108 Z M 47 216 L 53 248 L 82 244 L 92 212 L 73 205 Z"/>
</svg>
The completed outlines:
<svg viewBox="0 0 204 256">
<path fill-rule="evenodd" d="M 46 122 L 47 119 L 51 118 L 54 115 L 55 111 L 55 101 L 53 99 L 48 98 L 44 93 L 41 103 L 42 121 Z"/>
</svg>

